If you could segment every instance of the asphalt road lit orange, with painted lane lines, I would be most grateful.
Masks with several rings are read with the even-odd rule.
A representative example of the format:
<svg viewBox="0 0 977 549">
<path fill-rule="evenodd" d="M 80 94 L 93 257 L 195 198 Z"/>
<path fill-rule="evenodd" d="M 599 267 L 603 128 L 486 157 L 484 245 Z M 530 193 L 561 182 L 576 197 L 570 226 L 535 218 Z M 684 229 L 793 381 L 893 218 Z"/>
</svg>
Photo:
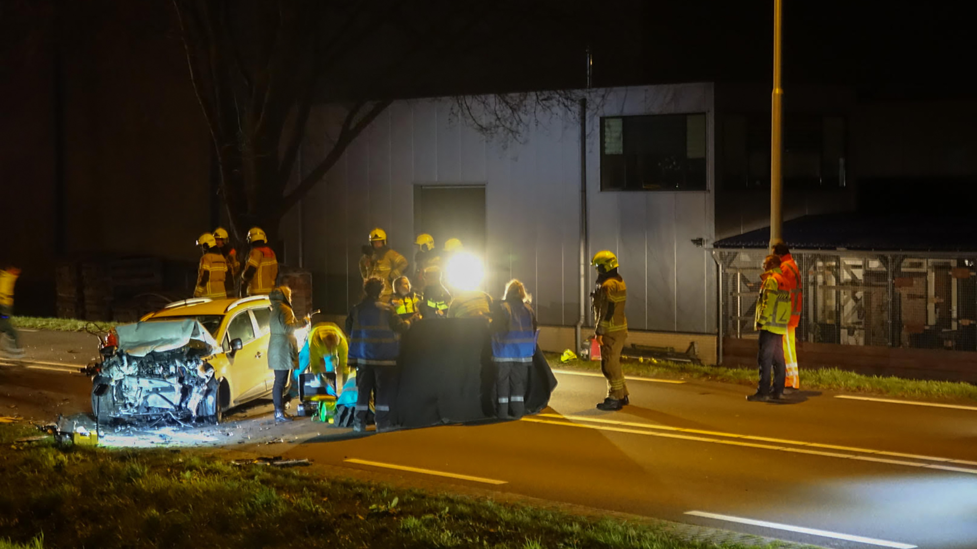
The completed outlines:
<svg viewBox="0 0 977 549">
<path fill-rule="evenodd" d="M 65 341 L 39 345 L 43 360 L 67 361 Z M 87 403 L 83 376 L 28 365 L 0 359 L 0 406 L 41 389 L 48 405 Z M 252 407 L 238 423 L 293 443 L 235 447 L 825 547 L 977 548 L 977 408 L 816 392 L 752 403 L 742 386 L 632 380 L 632 404 L 601 412 L 602 378 L 558 378 L 550 408 L 523 421 L 357 438 L 269 425 Z"/>
</svg>

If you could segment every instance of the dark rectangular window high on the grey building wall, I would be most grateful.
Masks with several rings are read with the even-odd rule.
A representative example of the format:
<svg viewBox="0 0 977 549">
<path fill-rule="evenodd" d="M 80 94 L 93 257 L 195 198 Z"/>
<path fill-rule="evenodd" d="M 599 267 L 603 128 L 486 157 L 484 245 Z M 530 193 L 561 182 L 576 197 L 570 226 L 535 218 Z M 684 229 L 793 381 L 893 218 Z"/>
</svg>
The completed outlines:
<svg viewBox="0 0 977 549">
<path fill-rule="evenodd" d="M 706 190 L 705 113 L 601 118 L 601 190 Z"/>
</svg>

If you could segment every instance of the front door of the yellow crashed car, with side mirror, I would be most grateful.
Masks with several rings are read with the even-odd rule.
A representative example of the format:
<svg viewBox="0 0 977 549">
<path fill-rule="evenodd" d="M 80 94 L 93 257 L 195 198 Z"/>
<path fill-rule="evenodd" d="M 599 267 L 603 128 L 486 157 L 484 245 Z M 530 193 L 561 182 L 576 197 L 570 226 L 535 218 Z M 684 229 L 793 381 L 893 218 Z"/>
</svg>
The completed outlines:
<svg viewBox="0 0 977 549">
<path fill-rule="evenodd" d="M 241 350 L 231 356 L 231 342 L 241 340 Z M 228 322 L 228 329 L 221 345 L 228 353 L 230 362 L 229 372 L 235 395 L 232 402 L 240 404 L 260 397 L 265 393 L 264 370 L 268 368 L 265 352 L 268 349 L 266 341 L 262 348 L 260 339 L 255 333 L 254 318 L 249 311 L 241 311 Z"/>
</svg>

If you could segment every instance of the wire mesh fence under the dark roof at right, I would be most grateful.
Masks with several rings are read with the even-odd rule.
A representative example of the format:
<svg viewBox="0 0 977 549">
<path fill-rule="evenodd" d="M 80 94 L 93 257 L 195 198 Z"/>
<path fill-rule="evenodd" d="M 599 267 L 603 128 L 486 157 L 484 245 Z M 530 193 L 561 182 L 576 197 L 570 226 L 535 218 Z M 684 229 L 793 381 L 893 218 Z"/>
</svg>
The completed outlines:
<svg viewBox="0 0 977 549">
<path fill-rule="evenodd" d="M 766 250 L 717 250 L 722 333 L 755 337 Z M 804 293 L 797 340 L 977 351 L 977 253 L 797 251 Z"/>
</svg>

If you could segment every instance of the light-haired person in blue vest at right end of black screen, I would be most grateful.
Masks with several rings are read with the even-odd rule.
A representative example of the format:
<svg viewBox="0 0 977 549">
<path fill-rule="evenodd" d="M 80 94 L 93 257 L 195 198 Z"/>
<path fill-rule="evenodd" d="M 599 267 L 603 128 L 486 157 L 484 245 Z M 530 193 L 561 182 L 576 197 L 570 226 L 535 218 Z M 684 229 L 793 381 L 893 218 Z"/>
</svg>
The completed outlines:
<svg viewBox="0 0 977 549">
<path fill-rule="evenodd" d="M 536 316 L 519 280 L 505 285 L 502 301 L 492 309 L 491 356 L 495 362 L 495 415 L 519 419 L 526 413 L 526 390 L 536 351 Z"/>
</svg>

